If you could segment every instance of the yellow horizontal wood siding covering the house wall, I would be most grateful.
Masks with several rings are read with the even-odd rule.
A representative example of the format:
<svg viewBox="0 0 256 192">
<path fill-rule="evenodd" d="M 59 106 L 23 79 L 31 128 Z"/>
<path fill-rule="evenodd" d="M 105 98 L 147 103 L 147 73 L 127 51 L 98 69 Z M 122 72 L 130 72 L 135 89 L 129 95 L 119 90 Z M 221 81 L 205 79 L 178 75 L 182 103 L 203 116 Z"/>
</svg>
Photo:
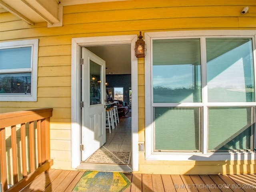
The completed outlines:
<svg viewBox="0 0 256 192">
<path fill-rule="evenodd" d="M 248 14 L 240 14 L 249 6 Z M 54 168 L 71 169 L 71 40 L 78 37 L 130 35 L 138 31 L 248 29 L 256 30 L 255 0 L 129 0 L 64 6 L 63 26 L 46 22 L 26 24 L 10 13 L 0 14 L 0 41 L 39 39 L 37 102 L 0 102 L 0 112 L 53 107 L 51 157 Z M 145 141 L 144 59 L 138 59 L 138 134 Z M 63 149 L 64 146 L 64 149 Z M 140 153 L 140 172 L 228 173 L 234 162 L 146 161 Z M 249 165 L 252 170 L 255 165 Z M 252 164 L 252 162 L 251 162 Z M 255 162 L 254 162 L 255 164 Z M 238 166 L 238 167 L 237 167 Z M 245 165 L 246 167 L 246 165 Z M 179 171 L 180 170 L 180 171 Z M 205 171 L 206 172 L 206 171 Z M 238 172 L 238 171 L 237 171 Z"/>
</svg>

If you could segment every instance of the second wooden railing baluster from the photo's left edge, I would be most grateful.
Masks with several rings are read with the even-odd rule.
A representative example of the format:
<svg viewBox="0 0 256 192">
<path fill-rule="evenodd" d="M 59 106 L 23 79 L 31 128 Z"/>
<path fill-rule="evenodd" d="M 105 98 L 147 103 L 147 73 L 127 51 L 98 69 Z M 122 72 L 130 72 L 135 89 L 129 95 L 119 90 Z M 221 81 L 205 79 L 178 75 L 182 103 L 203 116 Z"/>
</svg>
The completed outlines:
<svg viewBox="0 0 256 192">
<path fill-rule="evenodd" d="M 18 182 L 18 156 L 17 156 L 17 136 L 16 125 L 11 127 L 11 140 L 12 140 L 12 174 L 14 184 Z"/>
</svg>

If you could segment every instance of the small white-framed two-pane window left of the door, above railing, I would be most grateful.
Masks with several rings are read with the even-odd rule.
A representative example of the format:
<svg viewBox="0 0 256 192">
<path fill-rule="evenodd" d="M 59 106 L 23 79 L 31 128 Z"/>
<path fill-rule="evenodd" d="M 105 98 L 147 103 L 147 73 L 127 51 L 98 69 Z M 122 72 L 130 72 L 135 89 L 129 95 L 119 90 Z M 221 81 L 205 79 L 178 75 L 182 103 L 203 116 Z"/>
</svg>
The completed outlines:
<svg viewBox="0 0 256 192">
<path fill-rule="evenodd" d="M 37 52 L 38 40 L 1 43 L 0 96 L 2 101 L 36 100 Z M 22 99 L 21 96 L 27 98 Z M 32 97 L 29 98 L 29 96 Z"/>
</svg>

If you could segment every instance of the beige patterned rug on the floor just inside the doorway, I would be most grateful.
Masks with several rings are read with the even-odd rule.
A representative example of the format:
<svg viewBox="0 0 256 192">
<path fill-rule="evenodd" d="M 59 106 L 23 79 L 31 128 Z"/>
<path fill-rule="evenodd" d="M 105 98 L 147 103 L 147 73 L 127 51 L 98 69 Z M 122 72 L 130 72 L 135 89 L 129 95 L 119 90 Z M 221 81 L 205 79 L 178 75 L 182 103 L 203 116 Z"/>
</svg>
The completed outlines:
<svg viewBox="0 0 256 192">
<path fill-rule="evenodd" d="M 96 151 L 88 157 L 85 163 L 130 164 L 131 152 L 126 151 Z"/>
</svg>

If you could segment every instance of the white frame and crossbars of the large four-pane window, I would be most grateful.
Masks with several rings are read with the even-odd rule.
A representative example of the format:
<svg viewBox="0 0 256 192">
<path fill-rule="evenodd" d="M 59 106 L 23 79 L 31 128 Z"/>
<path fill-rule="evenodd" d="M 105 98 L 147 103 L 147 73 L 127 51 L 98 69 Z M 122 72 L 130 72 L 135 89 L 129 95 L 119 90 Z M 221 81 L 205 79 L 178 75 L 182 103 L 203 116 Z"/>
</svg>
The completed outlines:
<svg viewBox="0 0 256 192">
<path fill-rule="evenodd" d="M 256 152 L 207 152 L 208 139 L 208 107 L 210 106 L 256 106 L 256 102 L 242 103 L 208 103 L 204 102 L 205 92 L 207 92 L 206 78 L 206 54 L 201 55 L 202 62 L 202 103 L 181 103 L 181 104 L 153 104 L 152 93 L 152 41 L 153 39 L 166 38 L 201 38 L 201 49 L 206 51 L 206 38 L 252 38 L 253 41 L 253 59 L 254 59 L 254 76 L 256 76 L 256 31 L 255 30 L 200 30 L 200 31 L 173 31 L 173 32 L 146 32 L 144 34 L 147 44 L 148 54 L 145 57 L 145 158 L 146 160 L 171 160 L 171 161 L 220 161 L 220 160 L 256 160 Z M 204 71 L 203 71 L 204 70 Z M 256 85 L 254 77 L 254 85 Z M 150 83 L 146 83 L 150 82 Z M 202 107 L 202 148 L 201 152 L 154 152 L 154 124 L 153 124 L 153 107 L 176 107 L 176 106 L 194 106 Z M 254 146 L 256 134 L 254 134 Z"/>
</svg>

